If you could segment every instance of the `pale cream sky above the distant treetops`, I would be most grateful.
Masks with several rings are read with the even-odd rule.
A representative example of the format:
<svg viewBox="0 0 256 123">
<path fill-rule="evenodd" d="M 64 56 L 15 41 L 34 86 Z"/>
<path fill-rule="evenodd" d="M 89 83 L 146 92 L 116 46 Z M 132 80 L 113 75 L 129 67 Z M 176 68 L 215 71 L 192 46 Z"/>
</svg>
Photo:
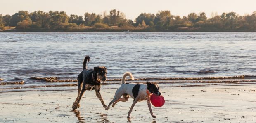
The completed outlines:
<svg viewBox="0 0 256 123">
<path fill-rule="evenodd" d="M 187 16 L 191 12 L 211 12 L 219 15 L 234 11 L 239 15 L 256 11 L 256 0 L 0 0 L 0 14 L 14 14 L 19 10 L 66 11 L 68 15 L 84 15 L 85 12 L 101 14 L 117 9 L 134 20 L 140 13 L 156 14 L 159 10 L 170 10 L 172 15 Z"/>
</svg>

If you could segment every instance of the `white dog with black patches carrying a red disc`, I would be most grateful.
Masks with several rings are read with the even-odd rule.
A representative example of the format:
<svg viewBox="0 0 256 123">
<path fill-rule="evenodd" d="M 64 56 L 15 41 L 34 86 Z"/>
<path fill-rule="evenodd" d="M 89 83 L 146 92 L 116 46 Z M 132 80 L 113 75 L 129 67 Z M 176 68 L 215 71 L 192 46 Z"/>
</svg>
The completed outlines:
<svg viewBox="0 0 256 123">
<path fill-rule="evenodd" d="M 105 110 L 108 110 L 112 103 L 112 107 L 114 107 L 116 103 L 119 101 L 128 101 L 129 96 L 131 96 L 134 100 L 133 105 L 130 107 L 130 111 L 128 112 L 127 118 L 130 118 L 130 113 L 132 112 L 135 104 L 138 101 L 143 100 L 147 100 L 147 105 L 149 107 L 150 114 L 153 118 L 156 118 L 151 109 L 150 96 L 152 93 L 157 94 L 159 96 L 161 95 L 161 93 L 159 92 L 158 85 L 151 82 L 147 82 L 147 84 L 126 83 L 126 76 L 129 76 L 132 80 L 134 80 L 132 73 L 126 72 L 123 74 L 121 87 L 116 90 L 113 100 L 109 103 Z M 121 98 L 121 96 L 123 96 L 123 98 Z"/>
</svg>

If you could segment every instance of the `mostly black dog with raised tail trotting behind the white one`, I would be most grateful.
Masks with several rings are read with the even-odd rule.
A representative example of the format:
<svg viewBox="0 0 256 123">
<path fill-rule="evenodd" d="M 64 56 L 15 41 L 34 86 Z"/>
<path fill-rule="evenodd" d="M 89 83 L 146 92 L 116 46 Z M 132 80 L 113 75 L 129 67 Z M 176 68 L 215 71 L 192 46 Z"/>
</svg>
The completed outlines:
<svg viewBox="0 0 256 123">
<path fill-rule="evenodd" d="M 73 111 L 80 107 L 80 100 L 83 96 L 85 90 L 95 90 L 96 96 L 101 101 L 103 107 L 107 107 L 105 105 L 101 95 L 100 95 L 100 86 L 101 81 L 106 81 L 107 68 L 104 66 L 97 66 L 93 69 L 87 69 L 86 63 L 90 61 L 90 57 L 86 56 L 83 60 L 83 71 L 77 77 L 78 84 L 78 96 L 76 101 L 73 104 Z"/>
</svg>

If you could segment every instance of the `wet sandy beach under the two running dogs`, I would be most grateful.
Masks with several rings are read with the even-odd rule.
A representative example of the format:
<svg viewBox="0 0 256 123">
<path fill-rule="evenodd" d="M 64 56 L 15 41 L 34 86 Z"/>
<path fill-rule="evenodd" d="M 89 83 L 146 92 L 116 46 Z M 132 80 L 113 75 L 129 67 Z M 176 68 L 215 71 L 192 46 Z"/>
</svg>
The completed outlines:
<svg viewBox="0 0 256 123">
<path fill-rule="evenodd" d="M 131 119 L 126 118 L 133 99 L 119 102 L 105 111 L 95 91 L 86 91 L 81 107 L 72 112 L 77 91 L 30 91 L 0 93 L 0 122 L 19 123 L 255 123 L 256 85 L 165 87 L 166 103 L 152 110 L 147 102 L 135 105 Z M 100 92 L 106 105 L 116 89 Z"/>
</svg>

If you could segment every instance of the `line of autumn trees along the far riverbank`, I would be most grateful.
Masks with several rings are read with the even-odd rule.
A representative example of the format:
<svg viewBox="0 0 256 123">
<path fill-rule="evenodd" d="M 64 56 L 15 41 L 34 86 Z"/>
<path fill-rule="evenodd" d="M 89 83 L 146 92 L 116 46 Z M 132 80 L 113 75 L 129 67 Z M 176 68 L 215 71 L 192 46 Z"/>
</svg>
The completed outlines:
<svg viewBox="0 0 256 123">
<path fill-rule="evenodd" d="M 0 28 L 5 26 L 16 29 L 86 29 L 109 27 L 137 27 L 139 29 L 154 29 L 163 31 L 175 30 L 213 30 L 213 31 L 256 31 L 256 11 L 240 16 L 235 12 L 212 15 L 207 18 L 204 12 L 190 13 L 187 16 L 172 15 L 170 11 L 159 11 L 157 14 L 141 13 L 133 21 L 126 19 L 123 12 L 113 9 L 102 14 L 85 13 L 84 16 L 64 11 L 18 11 L 13 15 L 0 14 Z"/>
</svg>

